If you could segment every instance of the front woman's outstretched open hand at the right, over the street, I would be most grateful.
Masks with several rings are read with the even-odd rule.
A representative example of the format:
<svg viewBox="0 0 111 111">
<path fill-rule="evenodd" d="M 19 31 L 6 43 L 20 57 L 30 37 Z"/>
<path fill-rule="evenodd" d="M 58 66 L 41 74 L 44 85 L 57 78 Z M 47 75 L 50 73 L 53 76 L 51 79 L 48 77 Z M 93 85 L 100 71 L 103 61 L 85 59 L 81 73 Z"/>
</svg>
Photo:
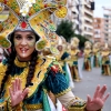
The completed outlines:
<svg viewBox="0 0 111 111">
<path fill-rule="evenodd" d="M 103 85 L 102 88 L 98 85 L 93 99 L 91 99 L 91 97 L 88 95 L 88 101 L 87 101 L 88 111 L 98 111 L 99 109 L 102 109 L 105 100 L 110 95 L 110 93 L 107 93 L 107 95 L 104 95 L 105 91 L 107 91 L 107 85 Z"/>
</svg>

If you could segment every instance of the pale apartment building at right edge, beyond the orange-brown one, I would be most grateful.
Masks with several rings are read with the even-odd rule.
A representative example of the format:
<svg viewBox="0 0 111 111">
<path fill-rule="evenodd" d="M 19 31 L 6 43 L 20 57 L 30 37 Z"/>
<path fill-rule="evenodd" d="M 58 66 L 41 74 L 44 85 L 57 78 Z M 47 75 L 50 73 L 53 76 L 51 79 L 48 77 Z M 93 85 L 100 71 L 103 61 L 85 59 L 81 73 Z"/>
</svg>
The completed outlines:
<svg viewBox="0 0 111 111">
<path fill-rule="evenodd" d="M 103 34 L 104 40 L 111 46 L 111 8 L 103 8 Z"/>
</svg>

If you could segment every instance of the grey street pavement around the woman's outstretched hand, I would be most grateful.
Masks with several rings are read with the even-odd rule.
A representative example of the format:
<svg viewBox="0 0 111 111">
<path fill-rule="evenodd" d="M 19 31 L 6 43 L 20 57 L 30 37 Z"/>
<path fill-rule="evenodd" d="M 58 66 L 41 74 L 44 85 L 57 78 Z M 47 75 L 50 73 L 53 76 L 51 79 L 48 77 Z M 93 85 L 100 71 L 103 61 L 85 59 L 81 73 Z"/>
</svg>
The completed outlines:
<svg viewBox="0 0 111 111">
<path fill-rule="evenodd" d="M 80 65 L 82 68 L 83 59 L 79 59 Z M 72 89 L 73 93 L 77 97 L 87 100 L 87 95 L 90 94 L 93 97 L 94 90 L 98 84 L 101 87 L 107 84 L 108 90 L 107 92 L 111 93 L 111 77 L 102 75 L 100 68 L 92 68 L 91 71 L 83 71 L 82 70 L 82 80 L 80 82 L 74 82 L 74 88 Z M 111 95 L 104 103 L 102 111 L 111 111 Z"/>
</svg>

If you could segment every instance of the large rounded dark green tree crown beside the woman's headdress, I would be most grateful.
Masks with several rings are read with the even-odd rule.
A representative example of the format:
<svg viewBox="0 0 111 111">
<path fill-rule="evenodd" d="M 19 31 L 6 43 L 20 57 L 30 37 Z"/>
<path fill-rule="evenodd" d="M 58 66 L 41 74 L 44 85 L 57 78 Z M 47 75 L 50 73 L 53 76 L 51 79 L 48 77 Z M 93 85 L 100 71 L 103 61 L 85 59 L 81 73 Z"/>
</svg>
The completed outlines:
<svg viewBox="0 0 111 111">
<path fill-rule="evenodd" d="M 73 22 L 69 20 L 62 20 L 57 27 L 57 34 L 62 36 L 69 42 L 74 36 Z"/>
</svg>

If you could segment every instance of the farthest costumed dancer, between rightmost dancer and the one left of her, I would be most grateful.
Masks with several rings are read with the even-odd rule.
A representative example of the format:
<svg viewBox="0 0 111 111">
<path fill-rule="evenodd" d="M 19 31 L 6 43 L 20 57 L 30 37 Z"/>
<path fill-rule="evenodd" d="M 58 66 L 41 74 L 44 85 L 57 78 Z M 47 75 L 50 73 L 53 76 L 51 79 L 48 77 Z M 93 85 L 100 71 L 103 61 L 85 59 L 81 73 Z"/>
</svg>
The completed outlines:
<svg viewBox="0 0 111 111">
<path fill-rule="evenodd" d="M 92 48 L 93 53 L 93 67 L 99 68 L 101 65 L 100 61 L 100 43 L 95 42 Z"/>
</svg>

